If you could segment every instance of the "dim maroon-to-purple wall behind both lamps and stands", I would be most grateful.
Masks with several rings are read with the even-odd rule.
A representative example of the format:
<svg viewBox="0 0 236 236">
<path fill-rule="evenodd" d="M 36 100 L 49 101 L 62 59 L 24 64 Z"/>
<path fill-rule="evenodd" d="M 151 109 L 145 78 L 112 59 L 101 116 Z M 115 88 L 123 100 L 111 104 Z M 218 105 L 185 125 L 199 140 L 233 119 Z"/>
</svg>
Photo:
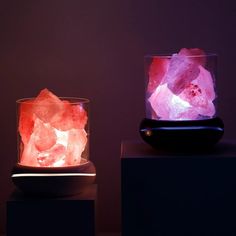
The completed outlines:
<svg viewBox="0 0 236 236">
<path fill-rule="evenodd" d="M 218 111 L 236 138 L 234 0 L 0 1 L 0 233 L 13 189 L 18 98 L 47 87 L 91 100 L 91 160 L 101 231 L 120 230 L 120 143 L 144 117 L 143 57 L 199 47 L 219 54 Z M 26 222 L 27 223 L 27 222 Z"/>
</svg>

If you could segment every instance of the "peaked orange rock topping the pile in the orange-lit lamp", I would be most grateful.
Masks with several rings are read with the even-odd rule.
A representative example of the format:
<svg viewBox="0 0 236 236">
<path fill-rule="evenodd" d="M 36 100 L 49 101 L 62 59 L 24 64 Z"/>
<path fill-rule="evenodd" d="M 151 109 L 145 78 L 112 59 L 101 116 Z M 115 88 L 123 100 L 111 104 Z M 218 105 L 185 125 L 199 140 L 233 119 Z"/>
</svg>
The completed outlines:
<svg viewBox="0 0 236 236">
<path fill-rule="evenodd" d="M 63 108 L 63 102 L 48 89 L 43 89 L 34 100 L 34 113 L 45 123 L 52 122 L 56 114 L 63 112 Z"/>
</svg>

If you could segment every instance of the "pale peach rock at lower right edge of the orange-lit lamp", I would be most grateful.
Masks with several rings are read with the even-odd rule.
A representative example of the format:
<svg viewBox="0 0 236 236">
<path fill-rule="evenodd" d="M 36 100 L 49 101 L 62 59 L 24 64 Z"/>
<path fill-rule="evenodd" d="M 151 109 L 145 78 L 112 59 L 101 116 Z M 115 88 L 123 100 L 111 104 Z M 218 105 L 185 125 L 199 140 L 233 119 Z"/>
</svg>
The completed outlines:
<svg viewBox="0 0 236 236">
<path fill-rule="evenodd" d="M 79 165 L 82 152 L 87 143 L 87 133 L 84 129 L 71 129 L 68 134 L 66 164 Z"/>
</svg>

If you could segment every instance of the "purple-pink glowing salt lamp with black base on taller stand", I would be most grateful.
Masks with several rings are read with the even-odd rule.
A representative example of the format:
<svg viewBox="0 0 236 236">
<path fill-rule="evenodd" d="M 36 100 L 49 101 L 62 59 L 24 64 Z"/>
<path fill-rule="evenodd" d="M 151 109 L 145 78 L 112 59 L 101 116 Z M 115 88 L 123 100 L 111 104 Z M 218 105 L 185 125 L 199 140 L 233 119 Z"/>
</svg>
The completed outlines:
<svg viewBox="0 0 236 236">
<path fill-rule="evenodd" d="M 141 137 L 155 148 L 212 147 L 224 133 L 217 116 L 216 54 L 198 48 L 145 57 L 146 117 Z"/>
</svg>

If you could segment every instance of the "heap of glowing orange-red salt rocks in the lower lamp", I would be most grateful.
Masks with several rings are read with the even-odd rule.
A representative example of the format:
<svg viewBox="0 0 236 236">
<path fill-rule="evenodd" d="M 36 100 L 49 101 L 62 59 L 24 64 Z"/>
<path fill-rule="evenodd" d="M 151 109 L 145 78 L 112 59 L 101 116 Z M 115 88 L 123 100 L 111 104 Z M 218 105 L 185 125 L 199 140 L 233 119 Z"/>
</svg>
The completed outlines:
<svg viewBox="0 0 236 236">
<path fill-rule="evenodd" d="M 44 89 L 20 103 L 20 164 L 36 167 L 79 165 L 87 144 L 87 113 Z"/>
</svg>

